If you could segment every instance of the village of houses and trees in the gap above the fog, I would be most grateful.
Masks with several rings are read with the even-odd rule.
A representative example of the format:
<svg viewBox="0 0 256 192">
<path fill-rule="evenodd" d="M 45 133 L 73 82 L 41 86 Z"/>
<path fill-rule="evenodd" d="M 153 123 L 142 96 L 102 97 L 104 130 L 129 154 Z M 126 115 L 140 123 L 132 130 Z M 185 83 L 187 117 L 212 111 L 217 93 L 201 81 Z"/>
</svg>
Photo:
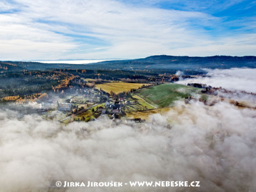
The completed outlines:
<svg viewBox="0 0 256 192">
<path fill-rule="evenodd" d="M 80 88 L 76 92 L 61 92 L 58 96 L 49 95 L 49 98 L 40 102 L 40 105 L 37 113 L 47 120 L 58 120 L 63 124 L 73 121 L 88 122 L 102 115 L 116 120 L 125 116 L 127 111 L 150 109 L 143 100 L 129 92 L 111 95 L 104 90 L 87 87 Z"/>
</svg>

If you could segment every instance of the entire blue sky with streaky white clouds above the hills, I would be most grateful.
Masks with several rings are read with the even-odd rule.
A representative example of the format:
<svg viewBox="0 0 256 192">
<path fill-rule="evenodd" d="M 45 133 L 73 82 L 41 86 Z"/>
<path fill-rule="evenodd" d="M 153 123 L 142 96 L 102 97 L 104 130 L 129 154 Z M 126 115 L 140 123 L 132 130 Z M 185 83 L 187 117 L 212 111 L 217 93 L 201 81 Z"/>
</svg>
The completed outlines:
<svg viewBox="0 0 256 192">
<path fill-rule="evenodd" d="M 255 55 L 256 1 L 0 0 L 0 60 Z"/>
</svg>

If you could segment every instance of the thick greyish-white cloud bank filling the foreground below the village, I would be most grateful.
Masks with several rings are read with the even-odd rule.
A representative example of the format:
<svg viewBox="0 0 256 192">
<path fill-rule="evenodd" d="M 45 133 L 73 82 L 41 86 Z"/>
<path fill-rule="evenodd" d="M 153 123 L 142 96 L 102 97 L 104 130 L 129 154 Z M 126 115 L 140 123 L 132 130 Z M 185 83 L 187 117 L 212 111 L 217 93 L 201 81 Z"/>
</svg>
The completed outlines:
<svg viewBox="0 0 256 192">
<path fill-rule="evenodd" d="M 256 111 L 252 109 L 225 102 L 212 107 L 177 102 L 175 109 L 151 116 L 146 124 L 115 124 L 102 118 L 63 126 L 36 115 L 19 119 L 16 115 L 0 111 L 0 186 L 6 192 L 84 191 L 52 188 L 54 180 L 200 180 L 197 191 L 255 189 Z"/>
</svg>

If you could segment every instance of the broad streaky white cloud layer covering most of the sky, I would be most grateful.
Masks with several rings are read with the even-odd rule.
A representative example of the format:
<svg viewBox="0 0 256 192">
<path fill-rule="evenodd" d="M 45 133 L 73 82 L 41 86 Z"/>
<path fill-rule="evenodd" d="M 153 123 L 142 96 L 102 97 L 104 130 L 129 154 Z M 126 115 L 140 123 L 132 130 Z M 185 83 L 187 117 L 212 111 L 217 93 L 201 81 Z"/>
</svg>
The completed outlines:
<svg viewBox="0 0 256 192">
<path fill-rule="evenodd" d="M 253 54 L 256 48 L 253 35 L 250 45 L 248 36 L 219 39 L 207 35 L 203 27 L 216 25 L 220 19 L 200 12 L 136 7 L 110 0 L 16 2 L 19 12 L 0 15 L 1 60 L 11 56 L 28 60 L 205 56 L 220 52 L 243 55 Z M 17 4 L 8 6 L 16 8 Z M 239 42 L 243 49 L 237 47 Z M 63 52 L 72 49 L 84 51 Z"/>
</svg>

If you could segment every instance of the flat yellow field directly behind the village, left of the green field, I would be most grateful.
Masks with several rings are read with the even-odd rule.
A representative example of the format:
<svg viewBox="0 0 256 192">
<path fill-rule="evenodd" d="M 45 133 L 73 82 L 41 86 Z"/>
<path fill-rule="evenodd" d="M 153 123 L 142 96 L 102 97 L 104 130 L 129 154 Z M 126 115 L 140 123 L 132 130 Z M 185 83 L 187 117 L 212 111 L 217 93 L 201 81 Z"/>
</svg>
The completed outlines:
<svg viewBox="0 0 256 192">
<path fill-rule="evenodd" d="M 145 83 L 103 83 L 103 84 L 95 84 L 95 88 L 104 90 L 104 92 L 110 93 L 111 91 L 114 93 L 120 92 L 128 92 L 131 89 L 138 89 Z M 148 84 L 145 84 L 148 85 Z"/>
</svg>

